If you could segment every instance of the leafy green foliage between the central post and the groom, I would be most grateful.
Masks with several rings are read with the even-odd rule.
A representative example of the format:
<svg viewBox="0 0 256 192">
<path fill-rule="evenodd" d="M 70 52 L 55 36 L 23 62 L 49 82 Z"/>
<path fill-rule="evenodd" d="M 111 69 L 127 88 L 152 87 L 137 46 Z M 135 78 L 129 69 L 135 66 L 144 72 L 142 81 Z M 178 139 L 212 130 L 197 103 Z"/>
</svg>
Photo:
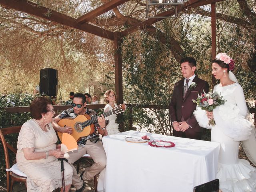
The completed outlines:
<svg viewBox="0 0 256 192">
<path fill-rule="evenodd" d="M 168 56 L 171 52 L 160 42 L 158 33 L 156 38 L 145 32 L 124 38 L 122 54 L 125 102 L 168 105 L 172 86 L 170 76 L 176 75 L 173 68 L 178 69 L 179 64 Z M 129 118 L 130 114 L 127 113 L 124 116 Z M 167 110 L 135 106 L 132 118 L 133 124 L 141 130 L 171 134 Z M 125 129 L 128 129 L 128 121 L 124 123 Z"/>
</svg>

